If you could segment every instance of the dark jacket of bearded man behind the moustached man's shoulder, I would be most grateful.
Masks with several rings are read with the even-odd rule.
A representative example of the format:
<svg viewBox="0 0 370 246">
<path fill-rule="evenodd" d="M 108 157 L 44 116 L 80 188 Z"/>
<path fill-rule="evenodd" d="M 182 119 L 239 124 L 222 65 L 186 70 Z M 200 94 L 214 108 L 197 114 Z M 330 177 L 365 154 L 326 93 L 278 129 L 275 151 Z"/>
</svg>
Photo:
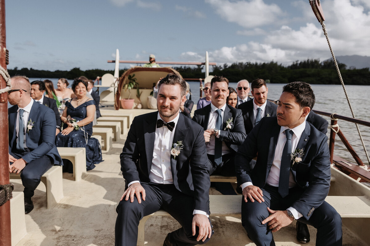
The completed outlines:
<svg viewBox="0 0 370 246">
<path fill-rule="evenodd" d="M 246 134 L 249 134 L 249 132 L 252 131 L 252 128 L 255 126 L 256 119 L 255 119 L 255 116 L 253 114 L 253 110 L 254 110 L 253 100 L 247 101 L 247 102 L 242 103 L 238 106 L 238 108 L 240 110 L 242 110 L 242 115 L 243 115 L 243 119 L 244 119 L 244 127 L 245 127 Z M 276 108 L 277 108 L 277 105 L 275 103 L 267 101 L 266 108 L 265 108 L 265 111 L 264 111 L 262 117 L 276 116 Z"/>
</svg>

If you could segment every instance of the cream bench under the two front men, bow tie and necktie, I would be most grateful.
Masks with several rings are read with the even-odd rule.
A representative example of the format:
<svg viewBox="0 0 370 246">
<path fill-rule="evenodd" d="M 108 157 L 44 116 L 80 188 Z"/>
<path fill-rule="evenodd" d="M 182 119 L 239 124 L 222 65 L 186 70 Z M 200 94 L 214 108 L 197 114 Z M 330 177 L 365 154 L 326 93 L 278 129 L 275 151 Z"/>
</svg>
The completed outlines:
<svg viewBox="0 0 370 246">
<path fill-rule="evenodd" d="M 342 218 L 370 218 L 370 200 L 365 196 L 327 196 L 325 199 Z M 209 195 L 211 216 L 241 216 L 242 195 Z M 151 216 L 169 216 L 164 210 L 143 217 L 138 227 L 137 245 L 144 246 L 145 222 Z M 241 226 L 241 224 L 240 224 Z"/>
</svg>

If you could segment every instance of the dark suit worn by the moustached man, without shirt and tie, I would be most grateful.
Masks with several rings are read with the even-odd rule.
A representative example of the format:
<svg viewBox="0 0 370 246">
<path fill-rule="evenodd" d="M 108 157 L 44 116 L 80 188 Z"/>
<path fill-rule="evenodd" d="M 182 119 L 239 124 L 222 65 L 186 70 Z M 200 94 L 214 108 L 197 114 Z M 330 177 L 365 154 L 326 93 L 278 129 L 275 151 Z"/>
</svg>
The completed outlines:
<svg viewBox="0 0 370 246">
<path fill-rule="evenodd" d="M 211 104 L 206 105 L 203 108 L 195 110 L 193 121 L 197 122 L 204 129 L 208 129 L 209 115 L 211 114 Z M 226 128 L 226 121 L 233 118 L 233 126 L 231 129 L 224 130 Z M 222 129 L 219 129 L 220 140 L 225 142 L 226 146 L 231 150 L 231 154 L 224 155 L 222 157 L 222 163 L 216 166 L 214 163 L 214 156 L 208 155 L 210 160 L 211 174 L 216 171 L 225 176 L 235 175 L 234 159 L 232 158 L 236 151 L 238 151 L 239 145 L 241 145 L 246 137 L 244 122 L 242 117 L 242 111 L 233 108 L 226 104 L 225 112 L 223 113 Z M 230 164 L 228 164 L 230 163 Z M 216 170 L 217 169 L 217 170 Z"/>
</svg>

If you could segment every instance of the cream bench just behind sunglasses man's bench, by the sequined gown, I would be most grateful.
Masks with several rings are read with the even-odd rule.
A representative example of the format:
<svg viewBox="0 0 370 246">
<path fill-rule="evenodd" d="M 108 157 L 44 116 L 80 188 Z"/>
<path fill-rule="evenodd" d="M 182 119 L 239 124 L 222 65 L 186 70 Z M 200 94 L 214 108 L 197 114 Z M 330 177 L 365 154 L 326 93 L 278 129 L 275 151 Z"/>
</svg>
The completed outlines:
<svg viewBox="0 0 370 246">
<path fill-rule="evenodd" d="M 86 149 L 85 148 L 70 148 L 57 147 L 60 157 L 72 162 L 73 177 L 75 181 L 80 181 L 86 174 Z"/>
</svg>

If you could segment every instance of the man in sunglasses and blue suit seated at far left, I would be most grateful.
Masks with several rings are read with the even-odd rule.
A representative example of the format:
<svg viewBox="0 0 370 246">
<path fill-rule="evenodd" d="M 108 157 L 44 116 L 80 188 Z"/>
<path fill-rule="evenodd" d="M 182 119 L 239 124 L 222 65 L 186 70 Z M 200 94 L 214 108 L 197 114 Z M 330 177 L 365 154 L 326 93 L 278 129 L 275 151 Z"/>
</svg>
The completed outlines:
<svg viewBox="0 0 370 246">
<path fill-rule="evenodd" d="M 11 78 L 8 101 L 9 172 L 20 174 L 24 186 L 24 210 L 33 209 L 32 197 L 41 176 L 54 164 L 62 165 L 55 146 L 53 110 L 31 98 L 31 84 L 25 76 Z"/>
</svg>

